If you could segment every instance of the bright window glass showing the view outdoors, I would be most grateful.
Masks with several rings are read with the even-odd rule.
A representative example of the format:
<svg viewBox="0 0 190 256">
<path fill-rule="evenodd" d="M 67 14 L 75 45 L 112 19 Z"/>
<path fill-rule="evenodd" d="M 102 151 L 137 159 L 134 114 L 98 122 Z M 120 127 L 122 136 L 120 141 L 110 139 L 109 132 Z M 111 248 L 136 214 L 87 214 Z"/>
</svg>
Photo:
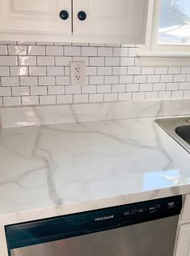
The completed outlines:
<svg viewBox="0 0 190 256">
<path fill-rule="evenodd" d="M 190 45 L 190 0 L 162 0 L 158 44 Z"/>
</svg>

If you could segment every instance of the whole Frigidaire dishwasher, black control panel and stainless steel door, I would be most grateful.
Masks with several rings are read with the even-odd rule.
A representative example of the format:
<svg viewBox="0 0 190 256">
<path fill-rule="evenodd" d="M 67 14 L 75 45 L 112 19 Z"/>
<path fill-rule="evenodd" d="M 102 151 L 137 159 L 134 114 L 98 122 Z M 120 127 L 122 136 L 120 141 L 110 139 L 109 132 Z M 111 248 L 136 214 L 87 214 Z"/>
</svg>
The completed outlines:
<svg viewBox="0 0 190 256">
<path fill-rule="evenodd" d="M 11 256 L 172 256 L 182 197 L 6 226 Z"/>
</svg>

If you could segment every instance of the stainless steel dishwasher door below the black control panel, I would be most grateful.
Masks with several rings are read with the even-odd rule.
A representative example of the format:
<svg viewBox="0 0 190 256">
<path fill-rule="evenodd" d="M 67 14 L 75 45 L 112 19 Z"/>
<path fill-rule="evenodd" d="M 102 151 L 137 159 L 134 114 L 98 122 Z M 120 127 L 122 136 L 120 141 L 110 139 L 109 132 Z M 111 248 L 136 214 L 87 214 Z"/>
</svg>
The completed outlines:
<svg viewBox="0 0 190 256">
<path fill-rule="evenodd" d="M 11 256 L 172 256 L 178 215 L 11 249 Z"/>
</svg>

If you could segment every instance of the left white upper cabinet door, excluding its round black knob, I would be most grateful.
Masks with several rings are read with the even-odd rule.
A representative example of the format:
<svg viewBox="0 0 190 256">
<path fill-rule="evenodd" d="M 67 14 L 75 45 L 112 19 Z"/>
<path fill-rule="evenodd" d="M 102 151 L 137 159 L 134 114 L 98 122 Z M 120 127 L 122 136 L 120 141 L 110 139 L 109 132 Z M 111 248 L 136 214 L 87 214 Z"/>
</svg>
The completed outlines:
<svg viewBox="0 0 190 256">
<path fill-rule="evenodd" d="M 61 20 L 59 13 L 69 13 Z M 1 0 L 0 32 L 71 35 L 71 0 Z"/>
</svg>

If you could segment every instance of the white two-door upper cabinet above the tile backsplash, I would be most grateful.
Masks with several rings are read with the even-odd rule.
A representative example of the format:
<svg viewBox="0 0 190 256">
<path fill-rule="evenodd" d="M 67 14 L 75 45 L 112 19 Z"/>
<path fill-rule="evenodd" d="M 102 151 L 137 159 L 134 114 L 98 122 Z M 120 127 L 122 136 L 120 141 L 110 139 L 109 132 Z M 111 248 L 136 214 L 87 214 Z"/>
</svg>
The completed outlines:
<svg viewBox="0 0 190 256">
<path fill-rule="evenodd" d="M 148 0 L 0 0 L 0 40 L 140 44 L 147 11 Z"/>
</svg>

